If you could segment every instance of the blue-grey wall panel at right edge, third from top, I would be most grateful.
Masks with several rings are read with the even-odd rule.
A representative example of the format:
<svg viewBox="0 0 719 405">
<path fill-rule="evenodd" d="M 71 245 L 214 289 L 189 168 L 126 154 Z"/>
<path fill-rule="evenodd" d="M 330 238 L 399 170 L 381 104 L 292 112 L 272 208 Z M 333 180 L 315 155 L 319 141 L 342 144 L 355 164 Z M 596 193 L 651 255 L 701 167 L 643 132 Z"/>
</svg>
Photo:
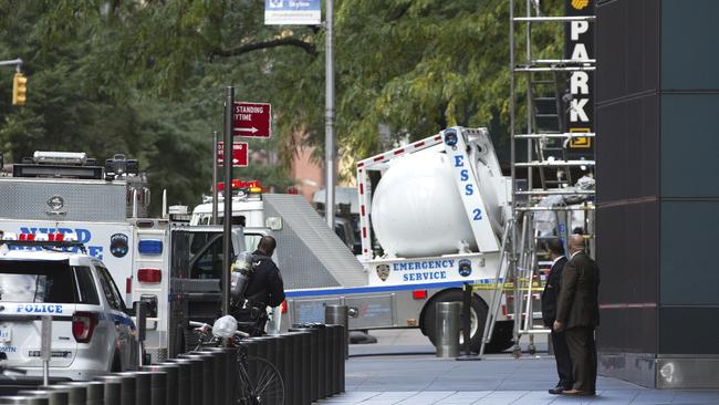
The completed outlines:
<svg viewBox="0 0 719 405">
<path fill-rule="evenodd" d="M 718 230 L 719 201 L 661 202 L 661 304 L 719 304 Z"/>
</svg>

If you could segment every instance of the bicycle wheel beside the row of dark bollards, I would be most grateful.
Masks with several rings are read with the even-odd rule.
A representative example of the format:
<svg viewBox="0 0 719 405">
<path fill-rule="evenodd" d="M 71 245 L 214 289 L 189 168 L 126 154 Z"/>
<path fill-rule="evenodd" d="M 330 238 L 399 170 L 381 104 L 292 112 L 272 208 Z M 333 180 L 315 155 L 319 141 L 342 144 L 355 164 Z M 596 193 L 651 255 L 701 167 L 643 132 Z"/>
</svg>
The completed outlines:
<svg viewBox="0 0 719 405">
<path fill-rule="evenodd" d="M 260 357 L 247 357 L 240 365 L 241 405 L 284 405 L 284 382 L 272 363 Z"/>
</svg>

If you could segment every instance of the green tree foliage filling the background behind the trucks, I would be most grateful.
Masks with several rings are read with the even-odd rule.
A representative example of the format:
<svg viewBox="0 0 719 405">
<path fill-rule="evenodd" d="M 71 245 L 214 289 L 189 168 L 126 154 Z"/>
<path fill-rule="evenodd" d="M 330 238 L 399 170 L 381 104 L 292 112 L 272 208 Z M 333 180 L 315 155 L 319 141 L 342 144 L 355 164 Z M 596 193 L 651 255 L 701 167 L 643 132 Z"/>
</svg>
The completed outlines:
<svg viewBox="0 0 719 405">
<path fill-rule="evenodd" d="M 519 11 L 524 2 L 515 2 Z M 563 2 L 542 3 L 558 14 Z M 0 0 L 2 58 L 22 58 L 29 74 L 22 107 L 10 105 L 9 68 L 0 81 L 7 160 L 35 149 L 125 153 L 148 170 L 156 202 L 167 188 L 170 202 L 194 205 L 209 190 L 211 131 L 221 129 L 233 85 L 237 100 L 271 102 L 275 120 L 271 141 L 251 143 L 274 158 L 237 173 L 283 190 L 298 139 L 323 154 L 325 38 L 319 28 L 264 25 L 263 6 Z M 507 0 L 335 0 L 335 133 L 345 159 L 450 125 L 489 126 L 507 145 Z M 546 44 L 535 54 L 561 54 L 561 27 L 552 27 L 533 30 Z"/>
</svg>

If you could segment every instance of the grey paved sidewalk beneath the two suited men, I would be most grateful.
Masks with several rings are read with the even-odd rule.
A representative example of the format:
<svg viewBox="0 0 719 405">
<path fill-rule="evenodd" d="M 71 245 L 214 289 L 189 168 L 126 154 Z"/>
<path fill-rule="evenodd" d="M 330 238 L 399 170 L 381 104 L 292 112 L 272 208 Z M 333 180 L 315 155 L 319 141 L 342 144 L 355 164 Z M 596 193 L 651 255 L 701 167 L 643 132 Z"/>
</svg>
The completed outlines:
<svg viewBox="0 0 719 405">
<path fill-rule="evenodd" d="M 437 359 L 416 330 L 373 335 L 377 344 L 350 349 L 346 393 L 319 404 L 719 404 L 719 391 L 647 390 L 602 376 L 596 397 L 550 395 L 548 390 L 558 377 L 545 342 L 538 342 L 540 353 L 535 356 L 514 360 L 502 353 L 460 362 Z"/>
</svg>

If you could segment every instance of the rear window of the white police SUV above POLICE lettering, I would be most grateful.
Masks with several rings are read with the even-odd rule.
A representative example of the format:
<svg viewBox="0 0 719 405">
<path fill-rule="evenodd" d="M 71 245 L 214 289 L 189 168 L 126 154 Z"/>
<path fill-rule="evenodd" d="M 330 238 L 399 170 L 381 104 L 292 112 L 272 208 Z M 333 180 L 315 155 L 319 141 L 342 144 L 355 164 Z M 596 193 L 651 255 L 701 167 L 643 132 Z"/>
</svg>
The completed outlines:
<svg viewBox="0 0 719 405">
<path fill-rule="evenodd" d="M 70 264 L 62 261 L 0 261 L 0 301 L 76 303 Z"/>
</svg>

